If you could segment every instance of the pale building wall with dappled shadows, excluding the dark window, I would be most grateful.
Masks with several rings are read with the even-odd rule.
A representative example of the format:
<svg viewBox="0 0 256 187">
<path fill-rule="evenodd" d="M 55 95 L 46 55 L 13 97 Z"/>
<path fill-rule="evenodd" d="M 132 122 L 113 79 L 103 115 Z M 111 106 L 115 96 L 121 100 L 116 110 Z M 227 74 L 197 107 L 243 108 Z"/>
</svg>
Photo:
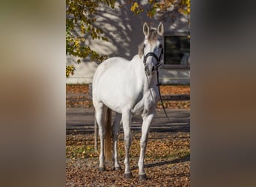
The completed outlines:
<svg viewBox="0 0 256 187">
<path fill-rule="evenodd" d="M 156 27 L 159 20 L 149 19 L 145 13 L 133 15 L 129 7 L 118 8 L 120 1 L 115 4 L 115 9 L 101 7 L 97 18 L 97 24 L 106 33 L 109 42 L 102 40 L 91 40 L 85 37 L 85 43 L 90 45 L 102 55 L 109 57 L 121 56 L 132 59 L 138 53 L 138 44 L 144 39 L 142 25 L 147 22 Z M 167 20 L 163 22 L 165 34 L 177 34 L 189 31 L 187 19 L 183 15 L 177 15 L 173 22 Z M 66 79 L 67 84 L 88 84 L 91 83 L 97 63 L 84 59 L 80 64 L 76 63 L 76 58 L 67 56 L 67 64 L 73 64 L 76 72 L 73 76 Z M 190 71 L 184 69 L 169 69 L 164 66 L 159 72 L 159 77 L 164 84 L 189 84 Z"/>
</svg>

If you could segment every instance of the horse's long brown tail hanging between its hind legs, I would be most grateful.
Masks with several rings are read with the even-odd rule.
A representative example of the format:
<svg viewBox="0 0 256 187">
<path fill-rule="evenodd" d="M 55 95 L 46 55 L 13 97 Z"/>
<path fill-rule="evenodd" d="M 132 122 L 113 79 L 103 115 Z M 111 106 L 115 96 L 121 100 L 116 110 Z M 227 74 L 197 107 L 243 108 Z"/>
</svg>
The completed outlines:
<svg viewBox="0 0 256 187">
<path fill-rule="evenodd" d="M 111 144 L 111 122 L 112 122 L 112 110 L 110 108 L 106 111 L 106 120 L 105 120 L 105 149 L 104 154 L 106 160 L 111 160 L 111 150 L 112 150 L 112 144 Z"/>
</svg>

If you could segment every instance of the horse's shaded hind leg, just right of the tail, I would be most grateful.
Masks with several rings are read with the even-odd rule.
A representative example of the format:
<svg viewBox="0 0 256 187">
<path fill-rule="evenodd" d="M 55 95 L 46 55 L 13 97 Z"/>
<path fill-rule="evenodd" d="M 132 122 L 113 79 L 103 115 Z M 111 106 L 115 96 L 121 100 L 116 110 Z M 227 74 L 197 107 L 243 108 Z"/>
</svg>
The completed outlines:
<svg viewBox="0 0 256 187">
<path fill-rule="evenodd" d="M 114 170 L 121 170 L 121 166 L 118 162 L 118 135 L 120 132 L 121 126 L 121 117 L 122 114 L 116 113 L 115 120 L 112 128 L 112 136 L 113 136 L 113 162 L 114 162 Z"/>
</svg>

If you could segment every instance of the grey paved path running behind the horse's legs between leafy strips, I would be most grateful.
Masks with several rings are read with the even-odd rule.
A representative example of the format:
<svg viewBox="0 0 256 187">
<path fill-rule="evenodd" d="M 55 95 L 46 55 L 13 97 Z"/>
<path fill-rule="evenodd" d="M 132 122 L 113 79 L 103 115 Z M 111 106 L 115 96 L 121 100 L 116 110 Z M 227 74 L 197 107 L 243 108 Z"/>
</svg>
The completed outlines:
<svg viewBox="0 0 256 187">
<path fill-rule="evenodd" d="M 162 109 L 156 111 L 156 116 L 150 126 L 150 132 L 189 132 L 190 111 L 181 109 L 166 109 L 170 121 Z M 141 117 L 132 117 L 132 131 L 141 131 Z M 121 131 L 123 129 L 121 128 Z M 66 108 L 67 134 L 85 134 L 94 132 L 94 108 Z"/>
</svg>

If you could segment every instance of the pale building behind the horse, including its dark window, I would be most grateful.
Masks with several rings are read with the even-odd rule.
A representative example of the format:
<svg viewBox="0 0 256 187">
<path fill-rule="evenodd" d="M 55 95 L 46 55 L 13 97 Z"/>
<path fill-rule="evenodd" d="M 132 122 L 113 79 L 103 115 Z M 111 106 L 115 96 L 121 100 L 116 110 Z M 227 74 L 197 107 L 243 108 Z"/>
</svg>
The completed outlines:
<svg viewBox="0 0 256 187">
<path fill-rule="evenodd" d="M 141 1 L 143 3 L 143 1 Z M 131 60 L 138 53 L 138 44 L 144 39 L 142 26 L 144 22 L 155 27 L 162 21 L 164 31 L 164 58 L 159 79 L 165 85 L 188 85 L 190 82 L 190 26 L 188 16 L 176 13 L 174 19 L 171 11 L 157 13 L 153 19 L 146 13 L 134 15 L 129 7 L 119 7 L 124 1 L 117 1 L 115 9 L 100 7 L 97 24 L 106 33 L 109 42 L 91 40 L 85 37 L 85 43 L 102 55 L 120 56 Z M 67 56 L 67 64 L 73 64 L 76 72 L 66 79 L 67 84 L 89 84 L 92 82 L 97 63 L 84 59 L 77 64 L 76 58 Z"/>
</svg>

